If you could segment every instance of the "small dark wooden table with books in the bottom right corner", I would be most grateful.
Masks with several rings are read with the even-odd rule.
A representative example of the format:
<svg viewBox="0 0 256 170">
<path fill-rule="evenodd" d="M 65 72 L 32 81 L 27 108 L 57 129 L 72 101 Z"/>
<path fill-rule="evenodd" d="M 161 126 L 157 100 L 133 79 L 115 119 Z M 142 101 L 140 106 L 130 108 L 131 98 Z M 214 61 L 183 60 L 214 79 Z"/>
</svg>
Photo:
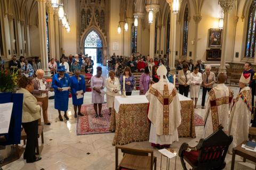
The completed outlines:
<svg viewBox="0 0 256 170">
<path fill-rule="evenodd" d="M 233 148 L 233 155 L 232 155 L 232 162 L 231 162 L 231 170 L 234 169 L 235 166 L 235 159 L 236 159 L 236 155 L 239 155 L 241 157 L 244 158 L 244 162 L 246 159 L 251 160 L 252 162 L 256 163 L 256 152 L 253 151 L 249 151 L 249 150 L 245 150 L 244 148 L 242 148 L 242 145 L 245 143 L 246 141 L 243 141 L 243 143 L 241 143 L 240 145 L 238 145 L 237 147 Z M 256 169 L 256 166 L 255 166 Z"/>
</svg>

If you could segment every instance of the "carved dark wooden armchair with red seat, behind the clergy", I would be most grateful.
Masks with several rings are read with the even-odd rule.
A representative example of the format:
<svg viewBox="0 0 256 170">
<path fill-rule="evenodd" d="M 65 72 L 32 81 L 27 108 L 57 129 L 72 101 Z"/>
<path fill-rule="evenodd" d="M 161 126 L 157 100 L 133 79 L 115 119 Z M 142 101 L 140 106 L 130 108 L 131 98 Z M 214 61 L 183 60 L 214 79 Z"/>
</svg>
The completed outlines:
<svg viewBox="0 0 256 170">
<path fill-rule="evenodd" d="M 218 131 L 206 139 L 201 139 L 196 147 L 189 147 L 187 143 L 182 143 L 179 156 L 183 169 L 187 170 L 185 160 L 195 170 L 225 168 L 225 157 L 233 137 L 228 136 L 222 129 L 222 126 L 219 126 Z"/>
</svg>

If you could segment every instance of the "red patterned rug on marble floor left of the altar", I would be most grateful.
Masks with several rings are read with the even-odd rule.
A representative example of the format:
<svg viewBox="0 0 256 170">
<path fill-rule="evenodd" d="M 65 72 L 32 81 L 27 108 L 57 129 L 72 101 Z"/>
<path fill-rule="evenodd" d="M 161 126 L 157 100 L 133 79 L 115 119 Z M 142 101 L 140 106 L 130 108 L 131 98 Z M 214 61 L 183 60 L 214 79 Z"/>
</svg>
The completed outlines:
<svg viewBox="0 0 256 170">
<path fill-rule="evenodd" d="M 110 116 L 107 104 L 102 104 L 101 114 L 103 117 L 95 118 L 93 104 L 82 105 L 82 114 L 84 116 L 77 116 L 76 134 L 97 134 L 97 133 L 111 133 L 109 131 Z"/>
</svg>

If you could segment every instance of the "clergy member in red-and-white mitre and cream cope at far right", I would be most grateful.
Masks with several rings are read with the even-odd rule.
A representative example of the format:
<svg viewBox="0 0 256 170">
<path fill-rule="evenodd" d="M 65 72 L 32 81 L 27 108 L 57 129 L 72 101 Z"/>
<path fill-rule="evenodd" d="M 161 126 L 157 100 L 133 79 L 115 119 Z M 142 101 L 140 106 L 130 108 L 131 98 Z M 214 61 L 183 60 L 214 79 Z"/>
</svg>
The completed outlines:
<svg viewBox="0 0 256 170">
<path fill-rule="evenodd" d="M 250 73 L 242 73 L 239 80 L 241 91 L 237 95 L 233 108 L 231 109 L 228 134 L 233 135 L 233 141 L 228 149 L 230 154 L 233 148 L 240 145 L 243 141 L 249 140 L 248 134 L 252 111 L 252 90 L 248 87 L 250 80 Z"/>
</svg>

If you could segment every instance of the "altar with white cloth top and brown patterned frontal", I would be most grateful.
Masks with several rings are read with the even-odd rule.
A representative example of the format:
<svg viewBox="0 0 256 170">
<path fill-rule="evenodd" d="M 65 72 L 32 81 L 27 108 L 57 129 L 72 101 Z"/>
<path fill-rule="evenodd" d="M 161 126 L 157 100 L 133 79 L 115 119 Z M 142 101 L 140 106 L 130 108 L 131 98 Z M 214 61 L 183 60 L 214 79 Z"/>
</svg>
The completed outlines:
<svg viewBox="0 0 256 170">
<path fill-rule="evenodd" d="M 180 138 L 196 138 L 193 100 L 179 95 L 181 104 Z M 111 113 L 110 131 L 115 131 L 112 145 L 126 145 L 149 139 L 150 122 L 147 117 L 148 99 L 145 95 L 116 96 Z"/>
</svg>

